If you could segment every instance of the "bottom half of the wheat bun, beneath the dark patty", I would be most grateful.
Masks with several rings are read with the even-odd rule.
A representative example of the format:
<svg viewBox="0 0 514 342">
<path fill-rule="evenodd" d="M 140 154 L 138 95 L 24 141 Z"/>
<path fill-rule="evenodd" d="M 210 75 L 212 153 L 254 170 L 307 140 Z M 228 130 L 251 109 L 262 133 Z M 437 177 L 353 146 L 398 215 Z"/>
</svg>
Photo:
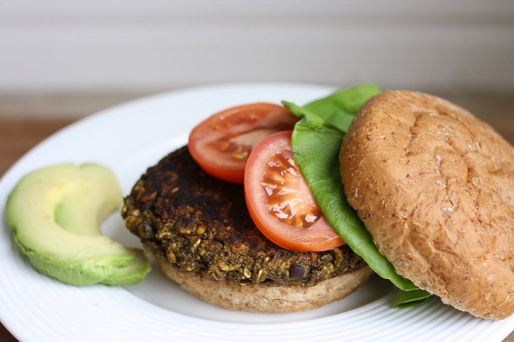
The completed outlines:
<svg viewBox="0 0 514 342">
<path fill-rule="evenodd" d="M 258 313 L 292 313 L 319 308 L 346 297 L 373 274 L 365 266 L 310 287 L 240 285 L 236 280 L 212 280 L 197 272 L 180 272 L 164 261 L 159 263 L 168 278 L 199 299 L 230 310 Z"/>
</svg>

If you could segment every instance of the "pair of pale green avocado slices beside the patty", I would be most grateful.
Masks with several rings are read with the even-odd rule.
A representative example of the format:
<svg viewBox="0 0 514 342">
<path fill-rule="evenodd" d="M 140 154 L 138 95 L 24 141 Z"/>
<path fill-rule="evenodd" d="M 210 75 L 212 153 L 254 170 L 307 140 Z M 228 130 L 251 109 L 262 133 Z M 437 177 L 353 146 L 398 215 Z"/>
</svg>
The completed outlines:
<svg viewBox="0 0 514 342">
<path fill-rule="evenodd" d="M 143 251 L 134 254 L 100 230 L 122 202 L 108 168 L 64 163 L 24 176 L 8 197 L 5 215 L 14 241 L 38 272 L 77 286 L 131 285 L 149 272 Z"/>
</svg>

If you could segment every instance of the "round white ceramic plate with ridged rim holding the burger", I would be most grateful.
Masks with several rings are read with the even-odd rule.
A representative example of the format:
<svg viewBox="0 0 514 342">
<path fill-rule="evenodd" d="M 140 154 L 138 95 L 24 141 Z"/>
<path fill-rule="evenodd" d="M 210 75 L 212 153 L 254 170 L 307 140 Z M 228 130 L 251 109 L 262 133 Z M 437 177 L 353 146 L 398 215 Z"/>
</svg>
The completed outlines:
<svg viewBox="0 0 514 342">
<path fill-rule="evenodd" d="M 333 89 L 291 83 L 239 83 L 159 94 L 88 116 L 49 137 L 3 176 L 0 203 L 27 172 L 51 163 L 95 161 L 112 168 L 125 194 L 161 157 L 186 143 L 210 114 L 256 101 L 298 104 Z M 0 319 L 21 341 L 501 341 L 514 317 L 485 321 L 432 298 L 418 308 L 391 308 L 394 291 L 374 279 L 348 298 L 314 311 L 258 314 L 227 311 L 197 300 L 156 265 L 133 287 L 72 287 L 38 274 L 16 249 L 2 208 Z M 119 214 L 103 231 L 140 246 Z"/>
</svg>

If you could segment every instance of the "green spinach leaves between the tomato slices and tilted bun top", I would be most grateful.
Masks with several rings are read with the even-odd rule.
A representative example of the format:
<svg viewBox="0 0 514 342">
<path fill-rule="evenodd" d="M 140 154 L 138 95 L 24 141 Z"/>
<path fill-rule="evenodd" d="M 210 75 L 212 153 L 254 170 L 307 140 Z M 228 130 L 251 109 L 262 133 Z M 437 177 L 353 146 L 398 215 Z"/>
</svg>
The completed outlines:
<svg viewBox="0 0 514 342">
<path fill-rule="evenodd" d="M 353 118 L 360 105 L 378 90 L 367 85 L 365 90 L 368 91 L 365 92 L 358 87 L 360 86 L 334 93 L 338 100 L 331 95 L 304 107 L 282 101 L 285 107 L 301 118 L 291 137 L 293 155 L 330 226 L 376 274 L 391 280 L 400 289 L 395 307 L 421 304 L 430 294 L 395 272 L 393 265 L 378 252 L 371 235 L 345 196 L 339 171 L 339 151 L 344 132 L 351 122 L 346 116 Z M 345 98 L 342 94 L 352 99 L 349 102 L 351 106 L 339 105 L 338 109 L 334 103 Z M 345 114 L 339 116 L 343 112 Z"/>
</svg>

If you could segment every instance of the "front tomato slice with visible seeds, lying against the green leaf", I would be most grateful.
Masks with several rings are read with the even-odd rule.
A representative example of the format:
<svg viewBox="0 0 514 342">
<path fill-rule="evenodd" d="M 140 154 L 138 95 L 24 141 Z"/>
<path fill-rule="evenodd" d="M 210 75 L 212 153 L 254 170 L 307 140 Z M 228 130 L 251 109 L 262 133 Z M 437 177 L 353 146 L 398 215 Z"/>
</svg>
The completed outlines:
<svg viewBox="0 0 514 342">
<path fill-rule="evenodd" d="M 328 225 L 291 149 L 292 131 L 274 133 L 248 158 L 245 198 L 257 228 L 278 246 L 299 252 L 339 247 L 343 239 Z"/>
</svg>

